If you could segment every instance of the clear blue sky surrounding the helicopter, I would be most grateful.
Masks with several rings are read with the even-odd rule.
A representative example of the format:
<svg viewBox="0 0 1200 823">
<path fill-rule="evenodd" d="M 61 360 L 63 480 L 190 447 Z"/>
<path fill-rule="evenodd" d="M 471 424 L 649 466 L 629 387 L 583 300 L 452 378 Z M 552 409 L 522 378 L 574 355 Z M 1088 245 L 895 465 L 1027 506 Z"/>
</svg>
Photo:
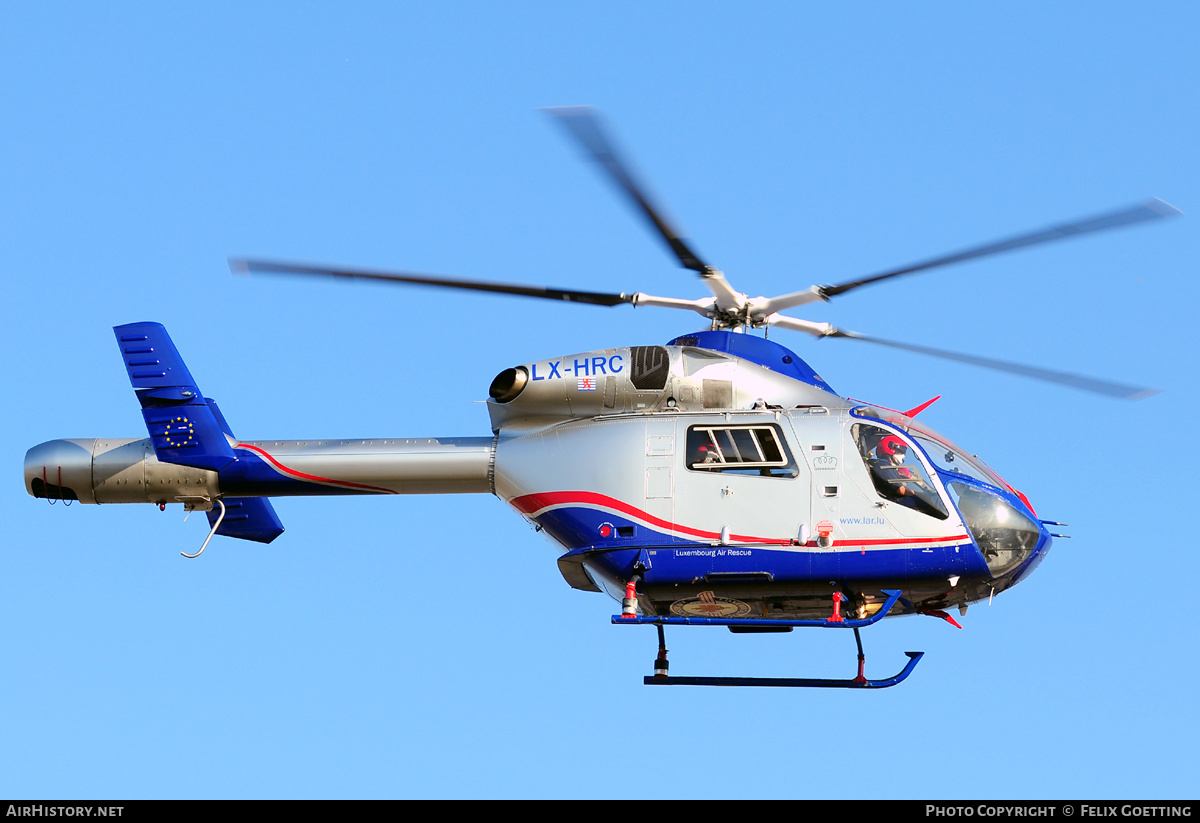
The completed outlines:
<svg viewBox="0 0 1200 823">
<path fill-rule="evenodd" d="M 481 435 L 515 364 L 688 314 L 234 277 L 230 256 L 702 296 L 539 107 L 587 103 L 701 253 L 778 294 L 1162 197 L 1200 210 L 1195 5 L 0 8 L 0 795 L 1194 797 L 1195 217 L 798 311 L 1164 389 L 1122 403 L 785 332 L 840 392 L 1072 524 L 964 631 L 865 632 L 875 693 L 647 689 L 653 630 L 487 495 L 50 509 L 140 437 L 110 328 L 167 325 L 239 435 Z M 1188 492 L 1188 494 L 1184 494 Z M 1189 513 L 1190 512 L 1190 513 Z M 1172 528 L 1166 529 L 1166 525 Z M 834 635 L 834 636 L 828 636 Z M 694 674 L 844 677 L 835 632 L 677 630 Z"/>
</svg>

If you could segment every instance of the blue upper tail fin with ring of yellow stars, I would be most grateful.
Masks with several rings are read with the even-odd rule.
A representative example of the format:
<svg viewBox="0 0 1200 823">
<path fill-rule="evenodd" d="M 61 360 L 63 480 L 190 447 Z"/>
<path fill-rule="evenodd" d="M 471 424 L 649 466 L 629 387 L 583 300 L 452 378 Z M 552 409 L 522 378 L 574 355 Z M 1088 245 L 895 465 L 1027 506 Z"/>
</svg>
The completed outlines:
<svg viewBox="0 0 1200 823">
<path fill-rule="evenodd" d="M 200 394 L 163 325 L 130 323 L 113 331 L 158 461 L 212 471 L 234 462 L 228 427 Z"/>
</svg>

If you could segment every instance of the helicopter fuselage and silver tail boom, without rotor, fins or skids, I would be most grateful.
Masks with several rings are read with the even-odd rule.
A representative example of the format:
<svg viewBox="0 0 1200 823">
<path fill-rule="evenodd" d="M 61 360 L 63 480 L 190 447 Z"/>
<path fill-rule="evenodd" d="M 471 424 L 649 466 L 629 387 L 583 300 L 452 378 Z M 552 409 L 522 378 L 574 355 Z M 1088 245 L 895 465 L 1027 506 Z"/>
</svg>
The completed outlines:
<svg viewBox="0 0 1200 823">
<path fill-rule="evenodd" d="M 234 458 L 218 468 L 161 461 L 155 438 L 54 440 L 29 451 L 25 482 L 50 499 L 204 509 L 491 492 L 557 545 L 572 587 L 620 600 L 636 577 L 656 615 L 806 619 L 835 593 L 866 615 L 884 589 L 904 591 L 901 613 L 964 607 L 1050 546 L 977 458 L 840 397 L 763 338 L 698 332 L 544 360 L 502 372 L 491 396 L 491 437 L 241 441 L 224 427 Z M 172 459 L 181 432 L 157 434 L 174 438 Z"/>
</svg>

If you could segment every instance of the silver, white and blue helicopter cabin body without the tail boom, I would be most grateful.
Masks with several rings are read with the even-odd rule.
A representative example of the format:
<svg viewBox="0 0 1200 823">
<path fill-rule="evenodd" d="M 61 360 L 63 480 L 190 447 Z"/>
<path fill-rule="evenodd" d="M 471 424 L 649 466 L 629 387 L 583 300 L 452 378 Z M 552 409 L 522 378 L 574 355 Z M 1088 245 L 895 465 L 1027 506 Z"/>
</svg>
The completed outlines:
<svg viewBox="0 0 1200 823">
<path fill-rule="evenodd" d="M 647 361 L 654 379 L 608 366 Z M 580 389 L 577 371 L 601 362 L 610 373 Z M 1007 589 L 1050 546 L 977 458 L 838 396 L 762 338 L 702 332 L 522 368 L 524 391 L 493 404 L 496 494 L 565 549 L 576 588 L 619 600 L 636 575 L 646 613 L 806 619 L 840 591 L 865 615 L 889 588 L 901 612 L 940 611 Z M 563 407 L 575 416 L 538 417 Z M 906 464 L 881 468 L 884 438 Z"/>
</svg>

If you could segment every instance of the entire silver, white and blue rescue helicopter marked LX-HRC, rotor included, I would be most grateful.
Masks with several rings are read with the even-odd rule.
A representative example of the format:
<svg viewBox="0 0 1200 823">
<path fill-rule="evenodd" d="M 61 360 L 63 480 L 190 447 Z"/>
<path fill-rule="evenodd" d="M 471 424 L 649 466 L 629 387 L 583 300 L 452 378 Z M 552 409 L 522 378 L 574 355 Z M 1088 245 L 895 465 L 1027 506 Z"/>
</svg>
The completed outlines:
<svg viewBox="0 0 1200 823">
<path fill-rule="evenodd" d="M 52 440 L 25 457 L 25 487 L 53 501 L 181 503 L 212 535 L 271 542 L 271 497 L 491 493 L 560 548 L 558 567 L 584 591 L 622 602 L 617 624 L 653 624 L 647 684 L 878 689 L 859 629 L 1003 591 L 1045 557 L 1052 534 L 1024 494 L 907 412 L 839 396 L 793 352 L 754 329 L 866 341 L 1064 383 L 1115 397 L 1150 390 L 929 349 L 780 312 L 871 283 L 988 254 L 1180 214 L 1153 200 L 1054 226 L 839 286 L 749 298 L 702 260 L 619 160 L 587 108 L 548 113 L 577 139 L 712 296 L 607 294 L 268 260 L 235 270 L 325 275 L 595 306 L 685 308 L 702 331 L 665 346 L 584 352 L 506 368 L 488 390 L 491 437 L 240 440 L 196 385 L 166 329 L 115 328 L 150 437 Z M 936 398 L 935 398 L 936 400 Z M 604 461 L 578 455 L 602 453 Z M 197 554 L 185 554 L 196 557 Z M 666 625 L 734 632 L 851 629 L 858 674 L 845 680 L 671 677 Z"/>
</svg>

